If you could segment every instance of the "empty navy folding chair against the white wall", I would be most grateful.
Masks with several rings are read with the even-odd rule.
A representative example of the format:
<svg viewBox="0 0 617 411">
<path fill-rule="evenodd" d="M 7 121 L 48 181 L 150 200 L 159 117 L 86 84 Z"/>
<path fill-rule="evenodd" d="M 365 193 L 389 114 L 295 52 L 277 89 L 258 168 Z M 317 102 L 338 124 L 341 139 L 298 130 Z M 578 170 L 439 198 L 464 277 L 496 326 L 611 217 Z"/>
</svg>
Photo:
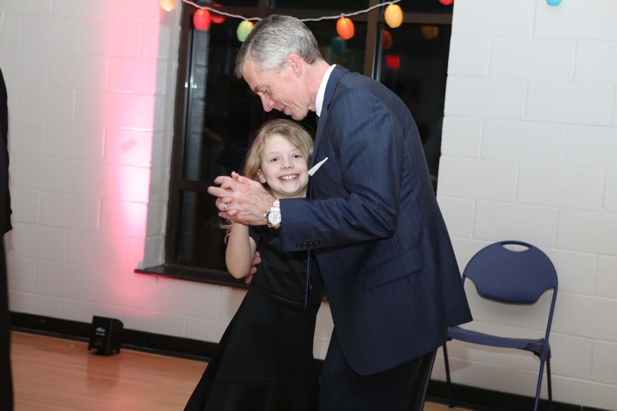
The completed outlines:
<svg viewBox="0 0 617 411">
<path fill-rule="evenodd" d="M 511 251 L 505 245 L 528 247 L 524 251 Z M 550 386 L 550 324 L 557 297 L 557 272 L 550 259 L 538 248 L 520 241 L 502 241 L 491 244 L 478 251 L 465 267 L 463 282 L 469 277 L 476 286 L 478 294 L 484 298 L 508 304 L 533 304 L 547 290 L 553 289 L 550 303 L 549 322 L 544 338 L 530 340 L 527 338 L 506 338 L 461 327 L 448 328 L 448 340 L 467 341 L 494 347 L 518 348 L 531 351 L 540 358 L 540 373 L 536 388 L 534 410 L 540 401 L 540 386 L 546 362 L 547 388 L 549 389 L 549 410 L 552 409 L 553 396 Z M 450 387 L 450 365 L 448 352 L 444 344 L 445 377 L 447 381 L 448 403 L 452 407 L 452 389 Z"/>
</svg>

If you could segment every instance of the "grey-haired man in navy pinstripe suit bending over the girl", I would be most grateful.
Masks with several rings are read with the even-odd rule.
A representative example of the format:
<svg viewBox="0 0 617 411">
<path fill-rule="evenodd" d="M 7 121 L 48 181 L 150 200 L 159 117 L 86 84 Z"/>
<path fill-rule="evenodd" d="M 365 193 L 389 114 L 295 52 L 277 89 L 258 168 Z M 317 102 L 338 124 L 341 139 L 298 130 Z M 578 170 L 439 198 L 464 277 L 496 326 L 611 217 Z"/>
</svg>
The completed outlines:
<svg viewBox="0 0 617 411">
<path fill-rule="evenodd" d="M 266 111 L 319 116 L 309 198 L 275 201 L 237 175 L 209 192 L 223 218 L 279 227 L 284 251 L 313 251 L 334 320 L 320 410 L 421 407 L 434 351 L 471 314 L 407 107 L 326 63 L 304 23 L 284 15 L 255 25 L 236 75 Z"/>
</svg>

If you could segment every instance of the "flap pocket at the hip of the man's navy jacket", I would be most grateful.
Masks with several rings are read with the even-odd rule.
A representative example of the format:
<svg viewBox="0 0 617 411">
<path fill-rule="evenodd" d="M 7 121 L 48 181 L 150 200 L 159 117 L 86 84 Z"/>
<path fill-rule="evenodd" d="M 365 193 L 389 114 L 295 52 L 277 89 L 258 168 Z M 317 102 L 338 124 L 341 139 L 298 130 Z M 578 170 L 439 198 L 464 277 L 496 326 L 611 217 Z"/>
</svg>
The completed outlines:
<svg viewBox="0 0 617 411">
<path fill-rule="evenodd" d="M 422 269 L 422 252 L 412 248 L 363 272 L 366 288 L 379 287 Z"/>
</svg>

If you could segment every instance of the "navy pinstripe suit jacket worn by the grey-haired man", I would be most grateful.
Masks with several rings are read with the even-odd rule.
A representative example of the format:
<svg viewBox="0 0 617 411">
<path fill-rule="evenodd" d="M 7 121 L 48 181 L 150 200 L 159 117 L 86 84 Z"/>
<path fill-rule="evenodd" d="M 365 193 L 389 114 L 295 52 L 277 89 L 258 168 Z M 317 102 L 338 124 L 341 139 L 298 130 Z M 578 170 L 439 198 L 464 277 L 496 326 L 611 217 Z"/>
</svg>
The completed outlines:
<svg viewBox="0 0 617 411">
<path fill-rule="evenodd" d="M 349 365 L 368 375 L 442 345 L 471 320 L 405 104 L 336 66 L 326 86 L 309 199 L 281 200 L 281 247 L 314 250 Z"/>
</svg>

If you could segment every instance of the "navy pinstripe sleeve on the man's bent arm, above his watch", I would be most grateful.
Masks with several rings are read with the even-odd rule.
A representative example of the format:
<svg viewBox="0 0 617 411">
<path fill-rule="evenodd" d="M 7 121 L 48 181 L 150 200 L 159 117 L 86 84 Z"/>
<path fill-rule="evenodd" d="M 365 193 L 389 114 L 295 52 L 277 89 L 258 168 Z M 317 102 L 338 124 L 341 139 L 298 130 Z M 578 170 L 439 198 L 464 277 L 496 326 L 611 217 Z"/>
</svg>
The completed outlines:
<svg viewBox="0 0 617 411">
<path fill-rule="evenodd" d="M 323 132 L 339 159 L 344 192 L 281 200 L 285 251 L 387 238 L 397 226 L 404 130 L 394 113 L 370 91 L 347 89 L 329 108 Z"/>
</svg>

